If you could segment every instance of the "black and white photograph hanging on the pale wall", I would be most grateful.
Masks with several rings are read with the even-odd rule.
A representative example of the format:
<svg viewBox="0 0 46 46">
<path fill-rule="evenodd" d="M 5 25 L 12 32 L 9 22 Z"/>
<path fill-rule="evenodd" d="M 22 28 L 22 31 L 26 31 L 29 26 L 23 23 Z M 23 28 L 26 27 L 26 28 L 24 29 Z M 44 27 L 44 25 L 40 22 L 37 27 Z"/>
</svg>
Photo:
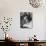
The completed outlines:
<svg viewBox="0 0 46 46">
<path fill-rule="evenodd" d="M 20 28 L 32 28 L 32 12 L 20 12 Z"/>
</svg>

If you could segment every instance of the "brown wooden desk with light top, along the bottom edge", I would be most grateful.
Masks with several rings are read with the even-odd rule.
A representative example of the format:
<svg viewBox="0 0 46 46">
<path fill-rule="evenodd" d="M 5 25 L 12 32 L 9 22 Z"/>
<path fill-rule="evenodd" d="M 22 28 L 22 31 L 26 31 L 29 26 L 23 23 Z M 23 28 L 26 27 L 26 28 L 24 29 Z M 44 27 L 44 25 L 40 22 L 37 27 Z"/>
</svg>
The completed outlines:
<svg viewBox="0 0 46 46">
<path fill-rule="evenodd" d="M 29 40 L 13 40 L 8 42 L 9 44 L 14 44 L 14 46 L 46 46 L 46 40 L 39 41 L 29 41 Z"/>
</svg>

